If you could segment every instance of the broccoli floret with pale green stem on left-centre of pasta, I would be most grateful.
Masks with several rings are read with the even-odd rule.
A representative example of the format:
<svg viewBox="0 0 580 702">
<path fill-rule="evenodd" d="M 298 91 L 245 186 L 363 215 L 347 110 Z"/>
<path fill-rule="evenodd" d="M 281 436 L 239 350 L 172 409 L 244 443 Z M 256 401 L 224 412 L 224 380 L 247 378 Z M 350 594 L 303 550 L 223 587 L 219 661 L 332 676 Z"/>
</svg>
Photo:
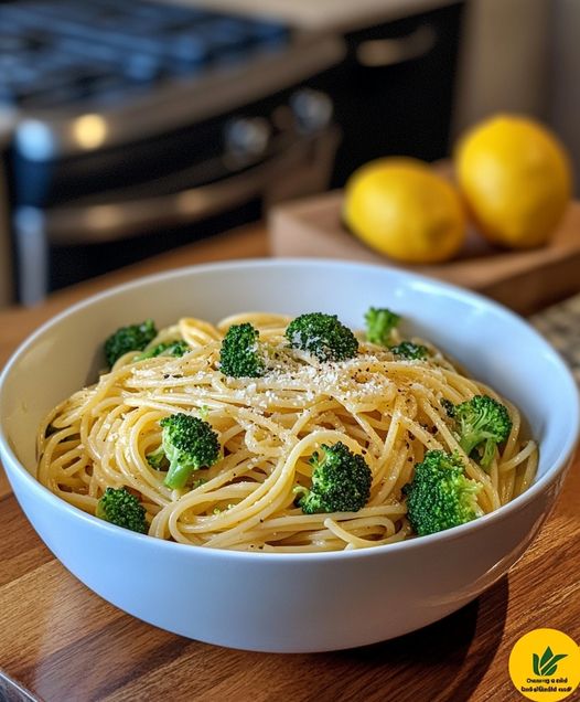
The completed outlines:
<svg viewBox="0 0 580 702">
<path fill-rule="evenodd" d="M 169 460 L 164 480 L 168 488 L 183 488 L 192 472 L 208 468 L 218 459 L 219 438 L 207 422 L 179 412 L 159 424 L 163 429 L 161 446 L 147 460 L 155 469 L 161 468 L 165 458 Z"/>
</svg>

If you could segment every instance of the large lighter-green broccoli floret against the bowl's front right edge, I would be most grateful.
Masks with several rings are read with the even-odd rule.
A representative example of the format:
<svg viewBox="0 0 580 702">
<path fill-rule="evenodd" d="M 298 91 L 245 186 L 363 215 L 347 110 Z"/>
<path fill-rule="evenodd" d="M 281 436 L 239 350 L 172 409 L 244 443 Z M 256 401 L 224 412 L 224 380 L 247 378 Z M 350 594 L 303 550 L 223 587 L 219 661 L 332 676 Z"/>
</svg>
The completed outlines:
<svg viewBox="0 0 580 702">
<path fill-rule="evenodd" d="M 416 464 L 415 476 L 402 492 L 407 496 L 409 522 L 419 536 L 481 517 L 481 485 L 466 478 L 463 469 L 459 455 L 441 450 L 427 451 L 422 462 Z"/>
</svg>

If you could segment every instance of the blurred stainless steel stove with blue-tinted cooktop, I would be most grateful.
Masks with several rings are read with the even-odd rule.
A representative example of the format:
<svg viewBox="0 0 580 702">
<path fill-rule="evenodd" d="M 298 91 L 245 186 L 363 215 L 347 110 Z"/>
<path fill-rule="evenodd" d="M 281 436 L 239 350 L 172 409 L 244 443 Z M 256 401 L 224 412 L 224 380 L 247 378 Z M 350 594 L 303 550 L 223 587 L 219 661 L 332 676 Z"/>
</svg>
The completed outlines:
<svg viewBox="0 0 580 702">
<path fill-rule="evenodd" d="M 0 4 L 15 297 L 34 302 L 324 188 L 336 130 L 309 79 L 342 54 L 330 36 L 191 6 Z"/>
</svg>

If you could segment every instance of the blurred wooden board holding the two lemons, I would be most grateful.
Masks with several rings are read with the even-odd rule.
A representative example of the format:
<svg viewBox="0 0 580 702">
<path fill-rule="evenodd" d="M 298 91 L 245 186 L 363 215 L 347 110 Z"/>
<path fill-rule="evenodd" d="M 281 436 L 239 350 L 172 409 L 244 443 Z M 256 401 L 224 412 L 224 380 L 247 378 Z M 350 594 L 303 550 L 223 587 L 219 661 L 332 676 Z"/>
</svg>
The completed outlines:
<svg viewBox="0 0 580 702">
<path fill-rule="evenodd" d="M 461 285 L 529 315 L 580 291 L 580 202 L 572 202 L 541 248 L 506 252 L 474 230 L 459 256 L 444 264 L 408 265 L 382 256 L 342 224 L 342 191 L 278 205 L 269 215 L 273 256 L 361 260 L 406 268 Z"/>
</svg>

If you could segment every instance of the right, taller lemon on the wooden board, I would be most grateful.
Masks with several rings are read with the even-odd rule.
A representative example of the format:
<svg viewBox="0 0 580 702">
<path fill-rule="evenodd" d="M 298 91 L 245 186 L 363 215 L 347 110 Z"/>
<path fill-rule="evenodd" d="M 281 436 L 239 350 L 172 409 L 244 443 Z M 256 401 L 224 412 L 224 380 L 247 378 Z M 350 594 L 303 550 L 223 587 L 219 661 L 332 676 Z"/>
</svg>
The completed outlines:
<svg viewBox="0 0 580 702">
<path fill-rule="evenodd" d="M 461 191 L 482 234 L 511 248 L 539 246 L 568 204 L 568 157 L 540 124 L 500 115 L 476 125 L 458 143 Z"/>
</svg>

